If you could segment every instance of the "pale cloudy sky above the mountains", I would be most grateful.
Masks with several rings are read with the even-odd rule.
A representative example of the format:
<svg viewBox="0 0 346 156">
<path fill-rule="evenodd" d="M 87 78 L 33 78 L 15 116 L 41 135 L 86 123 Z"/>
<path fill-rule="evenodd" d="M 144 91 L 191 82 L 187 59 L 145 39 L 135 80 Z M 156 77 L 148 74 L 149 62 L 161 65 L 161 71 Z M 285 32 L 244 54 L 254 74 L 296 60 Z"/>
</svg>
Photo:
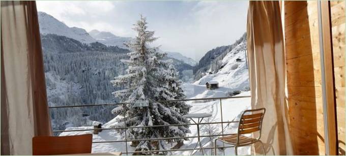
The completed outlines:
<svg viewBox="0 0 346 156">
<path fill-rule="evenodd" d="M 246 32 L 248 1 L 36 1 L 38 11 L 69 27 L 135 37 L 133 24 L 147 17 L 159 39 L 152 46 L 198 61 Z"/>
</svg>

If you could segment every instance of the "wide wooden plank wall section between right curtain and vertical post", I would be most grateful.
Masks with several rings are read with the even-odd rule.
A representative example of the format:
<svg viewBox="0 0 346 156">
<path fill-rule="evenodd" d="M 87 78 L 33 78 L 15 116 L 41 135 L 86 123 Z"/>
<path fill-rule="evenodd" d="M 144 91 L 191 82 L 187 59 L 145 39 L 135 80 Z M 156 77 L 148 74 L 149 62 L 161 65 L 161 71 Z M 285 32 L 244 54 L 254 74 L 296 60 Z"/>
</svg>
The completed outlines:
<svg viewBox="0 0 346 156">
<path fill-rule="evenodd" d="M 296 155 L 324 155 L 319 24 L 315 1 L 285 1 L 290 134 Z"/>
</svg>

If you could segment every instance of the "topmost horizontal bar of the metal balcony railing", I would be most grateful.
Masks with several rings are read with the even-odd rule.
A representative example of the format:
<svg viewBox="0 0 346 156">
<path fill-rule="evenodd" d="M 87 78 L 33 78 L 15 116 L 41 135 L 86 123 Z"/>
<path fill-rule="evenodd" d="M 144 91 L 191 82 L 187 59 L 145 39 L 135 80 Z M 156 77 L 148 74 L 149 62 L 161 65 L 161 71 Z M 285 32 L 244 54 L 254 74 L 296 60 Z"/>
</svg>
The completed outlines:
<svg viewBox="0 0 346 156">
<path fill-rule="evenodd" d="M 220 98 L 198 98 L 198 99 L 181 99 L 181 100 L 167 100 L 167 101 L 153 101 L 153 102 L 177 102 L 177 101 L 197 101 L 197 100 L 219 100 L 219 99 L 237 99 L 237 98 L 250 98 L 251 96 L 240 96 L 240 97 L 220 97 Z M 114 103 L 114 104 L 89 104 L 89 105 L 73 105 L 73 106 L 51 106 L 51 108 L 72 108 L 72 107 L 92 107 L 92 106 L 113 106 L 113 105 L 124 105 L 134 103 Z"/>
</svg>

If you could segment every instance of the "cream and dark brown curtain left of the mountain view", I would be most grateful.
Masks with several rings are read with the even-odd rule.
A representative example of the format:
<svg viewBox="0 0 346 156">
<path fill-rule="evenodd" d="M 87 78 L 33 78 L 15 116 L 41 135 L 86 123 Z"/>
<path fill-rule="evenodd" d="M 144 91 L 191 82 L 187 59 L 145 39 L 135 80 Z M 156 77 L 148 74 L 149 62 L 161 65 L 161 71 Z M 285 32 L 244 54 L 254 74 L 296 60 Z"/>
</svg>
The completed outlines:
<svg viewBox="0 0 346 156">
<path fill-rule="evenodd" d="M 36 3 L 1 2 L 1 154 L 31 155 L 51 135 Z"/>
</svg>

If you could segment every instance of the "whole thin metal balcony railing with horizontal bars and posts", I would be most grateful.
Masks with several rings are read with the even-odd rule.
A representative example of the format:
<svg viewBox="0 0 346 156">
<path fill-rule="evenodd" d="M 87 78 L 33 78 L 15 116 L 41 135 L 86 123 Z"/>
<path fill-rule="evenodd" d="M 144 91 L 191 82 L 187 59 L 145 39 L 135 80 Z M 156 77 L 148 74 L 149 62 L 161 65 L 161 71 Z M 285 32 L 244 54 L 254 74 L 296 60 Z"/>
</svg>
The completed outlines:
<svg viewBox="0 0 346 156">
<path fill-rule="evenodd" d="M 200 138 L 205 138 L 205 137 L 219 137 L 219 136 L 226 136 L 226 135 L 232 135 L 232 134 L 224 134 L 224 128 L 227 128 L 230 123 L 235 123 L 239 121 L 223 121 L 223 115 L 222 115 L 222 100 L 223 99 L 238 99 L 238 98 L 250 98 L 250 96 L 239 96 L 239 97 L 222 97 L 222 98 L 199 98 L 199 99 L 182 99 L 182 100 L 170 100 L 170 101 L 155 101 L 159 103 L 164 103 L 164 102 L 178 102 L 178 101 L 201 101 L 203 100 L 204 102 L 206 100 L 209 101 L 216 101 L 220 100 L 220 117 L 221 117 L 221 122 L 205 122 L 205 123 L 200 123 L 200 124 L 221 124 L 221 132 L 216 135 L 201 135 Z M 203 102 L 201 102 L 203 103 Z M 49 107 L 49 109 L 59 109 L 59 108 L 76 108 L 76 107 L 96 107 L 96 106 L 119 106 L 123 105 L 125 106 L 126 104 L 134 104 L 134 103 L 113 103 L 113 104 L 89 104 L 89 105 L 73 105 L 73 106 L 52 106 Z M 124 109 L 124 114 L 127 113 L 127 110 Z M 114 142 L 125 142 L 125 148 L 126 151 L 121 151 L 122 153 L 146 153 L 146 152 L 171 152 L 171 151 L 184 151 L 184 150 L 193 150 L 193 148 L 183 148 L 183 149 L 166 149 L 166 150 L 148 150 L 148 151 L 128 151 L 128 145 L 127 142 L 132 142 L 132 141 L 147 141 L 147 140 L 169 140 L 169 139 L 189 139 L 189 138 L 197 138 L 197 136 L 186 136 L 186 137 L 169 137 L 169 138 L 150 138 L 150 139 L 128 139 L 127 137 L 127 130 L 128 129 L 136 129 L 136 128 L 157 128 L 157 127 L 170 127 L 170 126 L 191 126 L 191 125 L 196 125 L 196 123 L 186 123 L 186 124 L 170 124 L 170 125 L 154 125 L 154 126 L 138 126 L 138 127 L 126 127 L 126 117 L 125 117 L 125 127 L 116 127 L 116 128 L 101 128 L 101 129 L 83 129 L 83 130 L 57 130 L 53 131 L 53 133 L 62 133 L 62 132 L 78 132 L 78 131 L 94 131 L 94 130 L 124 130 L 125 132 L 125 139 L 124 140 L 111 140 L 111 141 L 93 141 L 93 143 L 114 143 Z M 223 124 L 227 124 L 226 127 L 223 126 Z M 214 145 L 215 146 L 215 145 Z M 211 147 L 203 147 L 204 149 L 211 149 L 214 148 L 214 146 Z M 217 148 L 226 148 L 226 147 L 233 147 L 233 146 L 218 146 Z M 199 150 L 200 148 L 194 148 L 195 150 Z"/>
</svg>

